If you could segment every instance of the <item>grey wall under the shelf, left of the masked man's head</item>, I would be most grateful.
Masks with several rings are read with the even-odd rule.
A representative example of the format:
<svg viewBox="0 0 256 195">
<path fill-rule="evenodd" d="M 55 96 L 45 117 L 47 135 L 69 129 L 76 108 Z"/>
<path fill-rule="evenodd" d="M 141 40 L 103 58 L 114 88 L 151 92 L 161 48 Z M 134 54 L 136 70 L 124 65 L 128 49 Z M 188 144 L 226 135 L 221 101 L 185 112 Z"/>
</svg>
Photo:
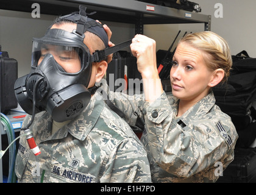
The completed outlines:
<svg viewBox="0 0 256 195">
<path fill-rule="evenodd" d="M 2 51 L 18 61 L 18 77 L 28 74 L 32 52 L 32 38 L 43 36 L 55 16 L 0 10 L 0 44 Z"/>
</svg>

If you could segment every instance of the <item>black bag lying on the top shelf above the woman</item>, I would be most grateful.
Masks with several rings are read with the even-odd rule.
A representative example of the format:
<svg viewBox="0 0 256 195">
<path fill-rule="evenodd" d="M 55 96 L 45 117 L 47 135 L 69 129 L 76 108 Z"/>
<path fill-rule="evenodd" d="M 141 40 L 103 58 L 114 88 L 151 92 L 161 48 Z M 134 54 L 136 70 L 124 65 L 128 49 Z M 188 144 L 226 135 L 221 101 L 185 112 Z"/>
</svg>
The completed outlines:
<svg viewBox="0 0 256 195">
<path fill-rule="evenodd" d="M 187 0 L 138 0 L 143 2 L 149 2 L 151 4 L 162 5 L 166 7 L 172 7 L 175 9 L 186 10 L 189 12 L 202 12 L 199 4 Z"/>
</svg>

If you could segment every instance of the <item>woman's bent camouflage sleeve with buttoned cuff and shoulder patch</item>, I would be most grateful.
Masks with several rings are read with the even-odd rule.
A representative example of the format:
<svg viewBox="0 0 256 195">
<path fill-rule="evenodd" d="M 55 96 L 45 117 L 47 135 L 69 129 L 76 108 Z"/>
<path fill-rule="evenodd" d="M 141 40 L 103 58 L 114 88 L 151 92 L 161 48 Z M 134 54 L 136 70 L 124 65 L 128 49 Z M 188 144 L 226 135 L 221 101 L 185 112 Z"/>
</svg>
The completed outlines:
<svg viewBox="0 0 256 195">
<path fill-rule="evenodd" d="M 190 177 L 217 161 L 226 167 L 233 160 L 237 134 L 229 118 L 209 115 L 183 124 L 174 117 L 165 93 L 147 104 L 146 112 L 148 146 L 154 161 L 165 171 Z M 222 125 L 232 143 L 219 132 L 217 124 Z"/>
</svg>

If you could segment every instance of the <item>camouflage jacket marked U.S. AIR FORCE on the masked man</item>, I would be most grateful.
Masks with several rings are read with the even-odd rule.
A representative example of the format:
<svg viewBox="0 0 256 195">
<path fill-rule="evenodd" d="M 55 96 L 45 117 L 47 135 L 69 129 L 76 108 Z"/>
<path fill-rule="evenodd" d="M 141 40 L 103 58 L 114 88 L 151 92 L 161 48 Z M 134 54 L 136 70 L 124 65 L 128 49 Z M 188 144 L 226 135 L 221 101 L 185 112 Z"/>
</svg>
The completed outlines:
<svg viewBox="0 0 256 195">
<path fill-rule="evenodd" d="M 151 182 L 143 145 L 97 91 L 84 112 L 54 135 L 48 112 L 38 113 L 30 129 L 41 154 L 36 158 L 21 138 L 15 165 L 18 182 Z"/>
</svg>

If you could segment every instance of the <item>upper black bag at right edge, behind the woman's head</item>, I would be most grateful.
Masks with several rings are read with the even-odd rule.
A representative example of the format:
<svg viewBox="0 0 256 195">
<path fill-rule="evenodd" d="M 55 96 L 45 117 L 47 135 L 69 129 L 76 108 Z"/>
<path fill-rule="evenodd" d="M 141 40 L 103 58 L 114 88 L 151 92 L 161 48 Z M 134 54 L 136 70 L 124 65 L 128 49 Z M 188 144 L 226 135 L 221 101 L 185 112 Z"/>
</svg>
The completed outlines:
<svg viewBox="0 0 256 195">
<path fill-rule="evenodd" d="M 233 55 L 230 77 L 225 84 L 213 87 L 216 104 L 228 115 L 246 116 L 256 99 L 256 59 Z"/>
</svg>

